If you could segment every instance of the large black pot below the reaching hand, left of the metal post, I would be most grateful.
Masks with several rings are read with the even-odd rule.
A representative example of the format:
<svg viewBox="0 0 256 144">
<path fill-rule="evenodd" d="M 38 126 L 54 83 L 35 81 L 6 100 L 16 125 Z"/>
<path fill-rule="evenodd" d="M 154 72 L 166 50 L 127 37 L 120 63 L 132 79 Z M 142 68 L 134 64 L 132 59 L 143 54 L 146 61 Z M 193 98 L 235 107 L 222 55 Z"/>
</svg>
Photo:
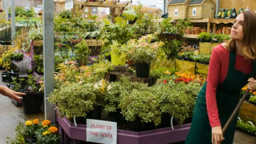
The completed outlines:
<svg viewBox="0 0 256 144">
<path fill-rule="evenodd" d="M 27 95 L 23 96 L 23 99 L 22 99 L 24 112 L 25 113 L 41 112 L 41 105 L 43 103 L 43 93 L 29 92 L 29 91 L 24 91 L 23 93 L 27 93 Z"/>
</svg>

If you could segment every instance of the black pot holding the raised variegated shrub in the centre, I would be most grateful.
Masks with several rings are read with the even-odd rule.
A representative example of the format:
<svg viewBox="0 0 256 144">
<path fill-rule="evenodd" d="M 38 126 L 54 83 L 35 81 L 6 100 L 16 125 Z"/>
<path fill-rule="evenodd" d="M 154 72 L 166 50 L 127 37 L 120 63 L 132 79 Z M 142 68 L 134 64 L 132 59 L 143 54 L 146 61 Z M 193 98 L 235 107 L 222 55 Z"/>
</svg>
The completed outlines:
<svg viewBox="0 0 256 144">
<path fill-rule="evenodd" d="M 136 76 L 137 77 L 149 77 L 149 70 L 150 65 L 149 64 L 135 64 L 136 69 Z"/>
</svg>

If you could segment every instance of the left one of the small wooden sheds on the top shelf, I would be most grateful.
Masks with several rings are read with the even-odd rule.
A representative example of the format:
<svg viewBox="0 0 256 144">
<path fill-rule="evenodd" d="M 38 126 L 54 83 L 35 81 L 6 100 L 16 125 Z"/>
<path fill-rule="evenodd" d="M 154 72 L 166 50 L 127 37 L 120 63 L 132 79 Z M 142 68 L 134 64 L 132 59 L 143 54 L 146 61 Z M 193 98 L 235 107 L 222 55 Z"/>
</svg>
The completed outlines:
<svg viewBox="0 0 256 144">
<path fill-rule="evenodd" d="M 188 3 L 187 18 L 214 18 L 215 5 L 212 0 L 191 0 Z"/>
</svg>

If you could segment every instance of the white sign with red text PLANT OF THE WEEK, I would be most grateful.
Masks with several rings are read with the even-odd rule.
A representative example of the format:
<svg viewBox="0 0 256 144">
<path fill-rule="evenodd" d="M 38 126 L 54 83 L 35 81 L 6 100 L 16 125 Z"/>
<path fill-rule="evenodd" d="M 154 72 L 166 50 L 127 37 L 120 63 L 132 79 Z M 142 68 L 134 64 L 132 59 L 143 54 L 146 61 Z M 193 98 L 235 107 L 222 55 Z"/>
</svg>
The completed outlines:
<svg viewBox="0 0 256 144">
<path fill-rule="evenodd" d="M 117 144 L 117 123 L 86 119 L 86 141 Z"/>
</svg>

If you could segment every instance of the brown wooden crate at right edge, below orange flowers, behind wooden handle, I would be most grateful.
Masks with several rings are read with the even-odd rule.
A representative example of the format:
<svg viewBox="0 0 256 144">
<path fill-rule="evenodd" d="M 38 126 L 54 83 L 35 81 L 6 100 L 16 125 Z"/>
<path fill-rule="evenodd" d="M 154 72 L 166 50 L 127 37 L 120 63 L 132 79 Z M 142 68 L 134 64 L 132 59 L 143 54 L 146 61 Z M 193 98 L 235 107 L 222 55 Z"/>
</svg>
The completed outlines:
<svg viewBox="0 0 256 144">
<path fill-rule="evenodd" d="M 245 122 L 251 121 L 256 125 L 256 105 L 243 102 L 240 107 L 239 117 Z"/>
</svg>

